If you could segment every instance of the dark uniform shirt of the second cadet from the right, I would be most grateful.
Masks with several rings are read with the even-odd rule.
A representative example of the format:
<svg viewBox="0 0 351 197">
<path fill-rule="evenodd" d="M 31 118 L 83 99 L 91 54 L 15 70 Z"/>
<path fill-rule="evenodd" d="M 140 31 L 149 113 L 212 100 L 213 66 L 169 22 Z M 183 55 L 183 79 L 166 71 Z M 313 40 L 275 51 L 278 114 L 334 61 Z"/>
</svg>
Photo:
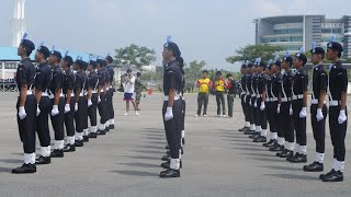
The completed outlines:
<svg viewBox="0 0 351 197">
<path fill-rule="evenodd" d="M 320 91 L 327 92 L 328 88 L 328 76 L 324 70 L 322 65 L 314 67 L 313 82 L 312 82 L 312 99 L 319 100 Z"/>
</svg>

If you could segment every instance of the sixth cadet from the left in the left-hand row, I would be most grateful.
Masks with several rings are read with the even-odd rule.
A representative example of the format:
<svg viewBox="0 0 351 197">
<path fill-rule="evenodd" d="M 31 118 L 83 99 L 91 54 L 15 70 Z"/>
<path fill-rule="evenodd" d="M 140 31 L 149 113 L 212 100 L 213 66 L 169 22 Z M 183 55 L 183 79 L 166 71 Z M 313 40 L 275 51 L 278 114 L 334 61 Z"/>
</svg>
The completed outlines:
<svg viewBox="0 0 351 197">
<path fill-rule="evenodd" d="M 88 114 L 90 118 L 90 134 L 89 138 L 97 138 L 97 115 L 98 115 L 98 85 L 99 85 L 99 77 L 95 71 L 97 61 L 90 60 L 88 65 Z"/>
</svg>

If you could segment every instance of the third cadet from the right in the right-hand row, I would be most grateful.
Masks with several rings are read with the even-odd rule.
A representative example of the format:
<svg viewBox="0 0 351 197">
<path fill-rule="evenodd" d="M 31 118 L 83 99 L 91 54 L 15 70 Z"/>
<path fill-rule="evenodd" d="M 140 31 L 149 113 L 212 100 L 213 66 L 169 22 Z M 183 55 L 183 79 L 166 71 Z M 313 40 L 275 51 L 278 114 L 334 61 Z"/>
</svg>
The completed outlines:
<svg viewBox="0 0 351 197">
<path fill-rule="evenodd" d="M 293 84 L 293 120 L 294 129 L 296 134 L 296 144 L 298 152 L 295 153 L 293 158 L 287 161 L 293 163 L 305 163 L 307 162 L 306 157 L 306 116 L 307 116 L 307 85 L 308 85 L 308 74 L 304 69 L 307 62 L 306 56 L 303 50 L 295 55 L 294 68 L 296 69 L 296 74 L 294 76 Z"/>
</svg>

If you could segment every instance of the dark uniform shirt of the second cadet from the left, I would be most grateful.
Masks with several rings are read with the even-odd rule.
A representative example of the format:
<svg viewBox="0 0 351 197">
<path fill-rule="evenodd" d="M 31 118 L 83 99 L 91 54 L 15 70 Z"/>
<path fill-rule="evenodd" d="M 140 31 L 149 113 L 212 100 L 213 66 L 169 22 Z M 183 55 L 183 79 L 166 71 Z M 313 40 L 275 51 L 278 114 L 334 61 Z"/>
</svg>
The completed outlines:
<svg viewBox="0 0 351 197">
<path fill-rule="evenodd" d="M 52 77 L 52 68 L 47 65 L 47 62 L 39 63 L 36 67 L 35 89 L 38 89 L 42 92 L 47 92 Z"/>
</svg>

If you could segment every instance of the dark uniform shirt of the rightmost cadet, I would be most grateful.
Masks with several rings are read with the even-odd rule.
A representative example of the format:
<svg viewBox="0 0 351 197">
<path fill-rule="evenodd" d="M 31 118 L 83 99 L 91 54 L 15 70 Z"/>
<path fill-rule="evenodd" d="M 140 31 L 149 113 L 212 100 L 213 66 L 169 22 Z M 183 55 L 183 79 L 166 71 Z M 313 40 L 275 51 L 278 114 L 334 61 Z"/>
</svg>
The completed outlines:
<svg viewBox="0 0 351 197">
<path fill-rule="evenodd" d="M 348 91 L 348 72 L 341 61 L 337 61 L 330 68 L 329 91 L 332 101 L 341 101 L 341 93 Z"/>
</svg>

